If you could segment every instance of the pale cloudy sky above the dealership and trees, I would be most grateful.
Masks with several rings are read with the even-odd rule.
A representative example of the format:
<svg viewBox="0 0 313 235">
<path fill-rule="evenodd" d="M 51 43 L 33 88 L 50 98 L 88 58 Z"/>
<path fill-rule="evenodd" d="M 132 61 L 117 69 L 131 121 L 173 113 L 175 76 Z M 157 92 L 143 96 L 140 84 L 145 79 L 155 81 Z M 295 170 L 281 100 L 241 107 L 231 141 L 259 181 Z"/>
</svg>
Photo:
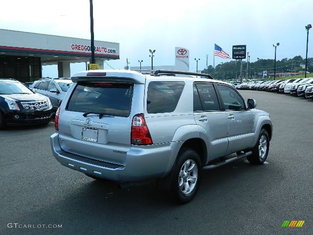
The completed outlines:
<svg viewBox="0 0 313 235">
<path fill-rule="evenodd" d="M 95 40 L 120 44 L 120 60 L 107 63 L 123 69 L 174 65 L 175 47 L 190 50 L 190 71 L 213 65 L 214 43 L 231 55 L 232 45 L 246 44 L 250 62 L 301 55 L 305 58 L 305 25 L 313 24 L 312 0 L 93 0 Z M 90 39 L 89 0 L 1 1 L 0 29 Z M 313 57 L 313 30 L 308 57 Z M 215 65 L 228 62 L 215 56 Z M 52 66 L 52 67 L 51 67 Z M 56 65 L 44 66 L 43 76 L 57 77 Z M 54 67 L 55 68 L 54 68 Z M 105 64 L 105 69 L 110 68 Z M 85 63 L 71 65 L 71 75 Z"/>
</svg>

